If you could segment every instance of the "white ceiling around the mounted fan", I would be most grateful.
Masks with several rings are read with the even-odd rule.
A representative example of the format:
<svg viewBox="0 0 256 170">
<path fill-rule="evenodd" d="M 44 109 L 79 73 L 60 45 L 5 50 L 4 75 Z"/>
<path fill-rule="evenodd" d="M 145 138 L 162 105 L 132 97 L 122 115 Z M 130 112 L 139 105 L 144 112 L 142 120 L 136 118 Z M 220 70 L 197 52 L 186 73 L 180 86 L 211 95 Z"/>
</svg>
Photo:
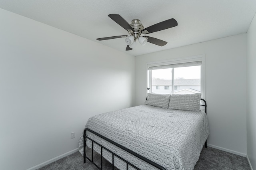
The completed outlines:
<svg viewBox="0 0 256 170">
<path fill-rule="evenodd" d="M 256 0 L 0 0 L 0 8 L 136 56 L 246 33 Z M 128 35 L 108 14 L 139 19 L 145 28 L 170 18 L 178 26 L 147 34 L 168 42 L 163 47 L 137 43 L 125 51 L 124 38 L 96 40 Z"/>
</svg>

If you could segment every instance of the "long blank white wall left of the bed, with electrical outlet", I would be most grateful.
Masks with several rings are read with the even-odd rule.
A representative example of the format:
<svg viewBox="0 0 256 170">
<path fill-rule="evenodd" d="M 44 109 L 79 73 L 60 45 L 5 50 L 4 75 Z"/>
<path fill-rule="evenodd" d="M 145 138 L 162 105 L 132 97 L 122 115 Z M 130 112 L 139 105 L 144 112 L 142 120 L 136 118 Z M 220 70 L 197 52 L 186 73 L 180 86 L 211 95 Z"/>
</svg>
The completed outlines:
<svg viewBox="0 0 256 170">
<path fill-rule="evenodd" d="M 88 118 L 133 106 L 134 87 L 134 56 L 0 9 L 1 169 L 78 148 Z"/>
</svg>

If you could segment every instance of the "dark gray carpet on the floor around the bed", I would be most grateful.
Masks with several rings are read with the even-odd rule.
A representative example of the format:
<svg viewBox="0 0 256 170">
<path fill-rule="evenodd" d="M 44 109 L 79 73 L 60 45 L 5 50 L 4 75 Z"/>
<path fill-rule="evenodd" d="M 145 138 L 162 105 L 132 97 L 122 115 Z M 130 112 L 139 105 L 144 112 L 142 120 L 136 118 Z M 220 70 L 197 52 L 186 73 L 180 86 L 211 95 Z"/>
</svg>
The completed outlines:
<svg viewBox="0 0 256 170">
<path fill-rule="evenodd" d="M 88 157 L 89 155 L 91 154 L 88 154 Z M 97 153 L 94 153 L 94 162 L 100 166 L 100 155 Z M 112 169 L 112 164 L 107 160 L 103 159 L 102 162 L 103 170 Z M 88 160 L 84 164 L 83 156 L 79 152 L 75 152 L 38 170 L 98 170 L 98 168 Z M 207 147 L 202 149 L 194 170 L 250 170 L 250 166 L 245 157 Z"/>
</svg>

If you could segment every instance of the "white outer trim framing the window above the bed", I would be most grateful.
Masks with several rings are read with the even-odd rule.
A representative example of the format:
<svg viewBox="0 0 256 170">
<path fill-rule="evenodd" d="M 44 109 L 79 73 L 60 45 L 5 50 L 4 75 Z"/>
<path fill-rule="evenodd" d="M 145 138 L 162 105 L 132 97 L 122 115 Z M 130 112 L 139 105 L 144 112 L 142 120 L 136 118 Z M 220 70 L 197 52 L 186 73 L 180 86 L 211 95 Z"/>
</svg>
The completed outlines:
<svg viewBox="0 0 256 170">
<path fill-rule="evenodd" d="M 167 60 L 162 60 L 162 61 L 153 61 L 153 62 L 148 62 L 146 63 L 146 87 L 145 87 L 145 97 L 147 96 L 148 93 L 148 78 L 149 78 L 149 83 L 150 85 L 152 84 L 150 77 L 151 71 L 148 77 L 148 67 L 153 67 L 153 66 L 160 66 L 160 65 L 168 65 L 168 64 L 179 64 L 179 63 L 189 63 L 189 62 L 196 62 L 196 61 L 202 61 L 202 66 L 201 66 L 201 98 L 206 100 L 206 67 L 205 67 L 205 54 L 202 55 L 194 55 L 194 56 L 189 56 L 189 57 L 181 57 L 181 58 L 174 58 L 174 59 L 167 59 Z M 173 73 L 172 73 L 173 74 Z M 172 75 L 172 77 L 174 77 Z M 152 85 L 151 85 L 152 86 Z M 149 91 L 151 92 L 151 87 L 149 87 Z M 174 86 L 172 86 L 174 90 Z"/>
</svg>

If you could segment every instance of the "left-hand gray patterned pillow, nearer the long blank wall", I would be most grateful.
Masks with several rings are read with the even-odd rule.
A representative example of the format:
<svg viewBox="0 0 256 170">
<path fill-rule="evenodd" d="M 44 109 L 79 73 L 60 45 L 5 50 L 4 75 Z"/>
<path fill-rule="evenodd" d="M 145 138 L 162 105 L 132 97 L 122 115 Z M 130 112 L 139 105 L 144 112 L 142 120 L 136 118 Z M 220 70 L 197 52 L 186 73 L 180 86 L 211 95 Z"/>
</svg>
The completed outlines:
<svg viewBox="0 0 256 170">
<path fill-rule="evenodd" d="M 167 109 L 169 105 L 169 101 L 170 101 L 170 94 L 163 95 L 163 94 L 148 93 L 147 100 L 145 101 L 144 104 Z"/>
</svg>

